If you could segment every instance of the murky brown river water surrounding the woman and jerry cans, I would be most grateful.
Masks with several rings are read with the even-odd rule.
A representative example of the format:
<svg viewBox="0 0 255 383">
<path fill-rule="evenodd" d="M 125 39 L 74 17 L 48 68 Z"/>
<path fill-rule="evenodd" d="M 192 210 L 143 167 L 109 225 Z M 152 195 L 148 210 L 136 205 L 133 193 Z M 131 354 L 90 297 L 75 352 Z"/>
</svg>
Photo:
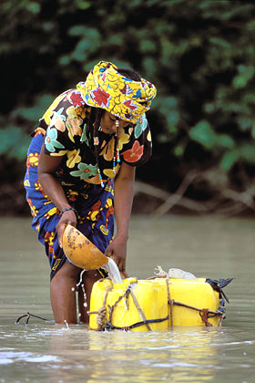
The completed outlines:
<svg viewBox="0 0 255 383">
<path fill-rule="evenodd" d="M 134 217 L 128 272 L 147 278 L 160 264 L 199 277 L 235 280 L 221 328 L 96 333 L 87 326 L 56 326 L 49 268 L 29 219 L 0 223 L 0 383 L 4 382 L 254 382 L 255 220 L 168 216 Z"/>
</svg>

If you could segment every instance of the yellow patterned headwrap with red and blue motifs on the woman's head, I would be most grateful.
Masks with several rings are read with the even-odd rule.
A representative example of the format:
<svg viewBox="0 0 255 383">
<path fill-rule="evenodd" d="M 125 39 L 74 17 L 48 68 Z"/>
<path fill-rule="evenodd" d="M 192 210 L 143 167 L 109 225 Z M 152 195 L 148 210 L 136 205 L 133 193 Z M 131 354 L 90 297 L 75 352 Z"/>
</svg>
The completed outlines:
<svg viewBox="0 0 255 383">
<path fill-rule="evenodd" d="M 136 123 L 148 111 L 157 90 L 146 79 L 134 81 L 117 72 L 117 67 L 100 61 L 76 88 L 87 105 L 106 109 L 119 119 Z"/>
</svg>

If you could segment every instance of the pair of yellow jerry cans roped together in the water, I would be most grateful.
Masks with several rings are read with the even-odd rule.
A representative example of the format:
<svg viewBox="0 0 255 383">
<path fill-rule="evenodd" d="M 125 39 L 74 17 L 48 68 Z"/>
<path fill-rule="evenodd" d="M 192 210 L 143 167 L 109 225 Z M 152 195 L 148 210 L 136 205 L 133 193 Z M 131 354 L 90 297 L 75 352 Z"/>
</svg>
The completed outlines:
<svg viewBox="0 0 255 383">
<path fill-rule="evenodd" d="M 94 284 L 89 327 L 94 330 L 164 330 L 172 326 L 219 326 L 219 293 L 204 278 L 196 280 L 127 278 Z"/>
</svg>

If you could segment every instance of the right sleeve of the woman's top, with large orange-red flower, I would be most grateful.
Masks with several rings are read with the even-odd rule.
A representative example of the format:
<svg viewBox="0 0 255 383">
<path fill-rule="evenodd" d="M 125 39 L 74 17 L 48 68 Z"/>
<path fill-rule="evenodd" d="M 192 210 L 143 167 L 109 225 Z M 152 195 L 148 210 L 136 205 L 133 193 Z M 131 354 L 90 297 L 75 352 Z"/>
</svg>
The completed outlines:
<svg viewBox="0 0 255 383">
<path fill-rule="evenodd" d="M 129 128 L 130 129 L 130 128 Z M 130 140 L 120 150 L 121 159 L 128 165 L 141 166 L 151 156 L 152 142 L 148 119 L 143 114 L 130 134 Z"/>
</svg>

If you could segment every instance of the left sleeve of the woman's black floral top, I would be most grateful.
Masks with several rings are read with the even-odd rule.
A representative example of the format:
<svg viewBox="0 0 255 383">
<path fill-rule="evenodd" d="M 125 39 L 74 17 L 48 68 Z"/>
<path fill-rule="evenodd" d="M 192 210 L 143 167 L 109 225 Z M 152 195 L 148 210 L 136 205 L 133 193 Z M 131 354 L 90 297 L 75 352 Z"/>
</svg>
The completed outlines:
<svg viewBox="0 0 255 383">
<path fill-rule="evenodd" d="M 56 98 L 40 120 L 40 126 L 46 127 L 45 153 L 50 156 L 63 156 L 67 151 L 75 150 L 76 140 L 82 133 L 81 119 L 76 116 L 66 95 L 61 96 Z"/>
</svg>

